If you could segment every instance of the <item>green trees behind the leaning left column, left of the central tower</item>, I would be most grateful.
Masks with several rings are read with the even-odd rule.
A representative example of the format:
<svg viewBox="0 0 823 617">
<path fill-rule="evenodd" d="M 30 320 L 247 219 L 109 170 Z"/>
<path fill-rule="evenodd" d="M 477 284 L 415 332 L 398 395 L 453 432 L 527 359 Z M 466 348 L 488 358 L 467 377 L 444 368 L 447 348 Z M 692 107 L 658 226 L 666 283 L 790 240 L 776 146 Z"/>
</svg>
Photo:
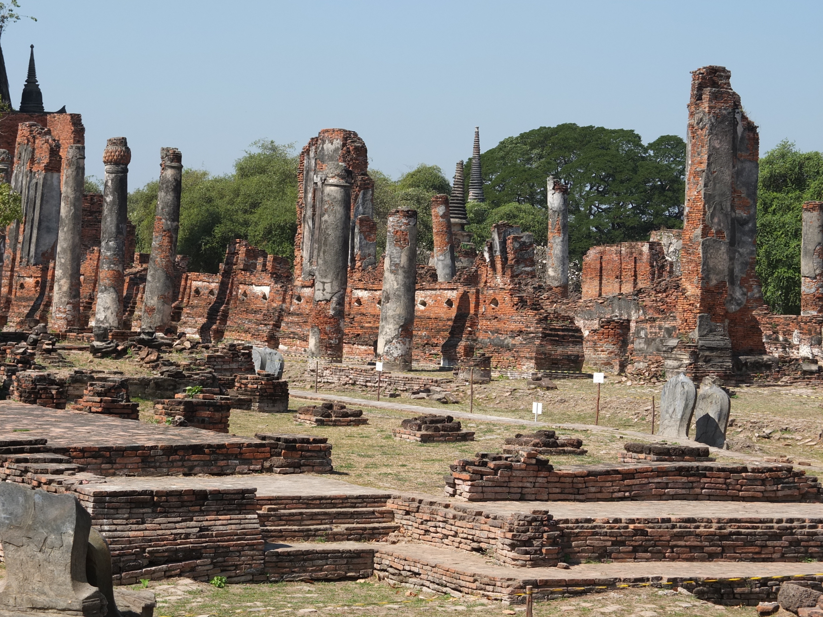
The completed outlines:
<svg viewBox="0 0 823 617">
<path fill-rule="evenodd" d="M 298 158 L 291 145 L 274 141 L 255 141 L 252 148 L 235 161 L 234 174 L 183 171 L 178 253 L 190 257 L 192 271 L 216 272 L 234 239 L 294 258 Z M 143 253 L 151 251 L 157 191 L 154 180 L 128 196 Z"/>
</svg>

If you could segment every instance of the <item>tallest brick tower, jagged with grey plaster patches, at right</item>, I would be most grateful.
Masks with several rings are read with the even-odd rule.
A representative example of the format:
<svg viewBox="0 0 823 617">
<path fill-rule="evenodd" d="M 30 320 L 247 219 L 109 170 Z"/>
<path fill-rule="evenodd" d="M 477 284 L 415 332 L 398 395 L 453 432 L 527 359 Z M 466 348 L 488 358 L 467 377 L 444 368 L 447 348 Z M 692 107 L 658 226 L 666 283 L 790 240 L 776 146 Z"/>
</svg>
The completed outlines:
<svg viewBox="0 0 823 617">
<path fill-rule="evenodd" d="M 684 295 L 678 330 L 690 343 L 687 373 L 728 374 L 736 355 L 763 353 L 753 311 L 759 137 L 724 67 L 692 72 L 688 105 L 686 210 L 681 251 Z"/>
</svg>

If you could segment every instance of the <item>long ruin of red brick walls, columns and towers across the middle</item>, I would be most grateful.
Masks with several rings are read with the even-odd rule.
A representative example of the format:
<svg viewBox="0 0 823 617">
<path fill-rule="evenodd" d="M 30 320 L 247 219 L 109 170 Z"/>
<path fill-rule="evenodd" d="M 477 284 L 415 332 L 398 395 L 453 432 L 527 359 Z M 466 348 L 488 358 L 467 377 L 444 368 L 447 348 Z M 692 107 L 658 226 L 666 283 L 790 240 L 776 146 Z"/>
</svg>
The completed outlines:
<svg viewBox="0 0 823 617">
<path fill-rule="evenodd" d="M 188 257 L 175 254 L 179 151 L 161 152 L 167 188 L 158 207 L 157 255 L 134 253 L 131 224 L 106 231 L 106 207 L 115 218 L 123 209 L 118 196 L 130 160 L 125 139 L 111 139 L 106 195 L 81 200 L 80 270 L 70 274 L 80 299 L 72 325 L 54 318 L 51 303 L 60 188 L 67 148 L 83 144 L 81 118 L 12 112 L 0 120 L 7 129 L 0 146 L 13 153 L 0 151 L 0 174 L 23 195 L 24 215 L 6 230 L 0 323 L 7 331 L 47 323 L 87 340 L 99 327 L 119 340 L 140 329 L 185 332 L 332 362 L 384 360 L 394 370 L 411 362 L 458 367 L 486 354 L 495 369 L 579 373 L 588 364 L 732 381 L 814 376 L 823 357 L 823 207 L 803 208 L 802 314 L 774 315 L 755 274 L 757 128 L 728 70 L 692 73 L 688 113 L 683 230 L 591 248 L 579 295 L 569 290 L 569 189 L 561 179 L 547 179 L 548 247 L 539 272 L 532 234 L 516 225 L 495 223 L 485 246 L 472 244 L 459 164 L 451 200 L 432 199 L 431 262 L 412 258 L 415 212 L 407 210 L 390 216 L 388 259 L 379 260 L 365 143 L 356 132 L 324 129 L 300 154 L 293 271 L 285 258 L 235 240 L 220 270 L 208 274 L 189 272 Z M 482 199 L 481 186 L 468 197 Z M 105 257 L 105 267 L 101 246 L 108 256 L 109 240 L 101 234 L 114 234 L 115 244 L 122 236 L 123 244 Z M 101 281 L 116 291 L 119 316 L 100 308 Z"/>
</svg>

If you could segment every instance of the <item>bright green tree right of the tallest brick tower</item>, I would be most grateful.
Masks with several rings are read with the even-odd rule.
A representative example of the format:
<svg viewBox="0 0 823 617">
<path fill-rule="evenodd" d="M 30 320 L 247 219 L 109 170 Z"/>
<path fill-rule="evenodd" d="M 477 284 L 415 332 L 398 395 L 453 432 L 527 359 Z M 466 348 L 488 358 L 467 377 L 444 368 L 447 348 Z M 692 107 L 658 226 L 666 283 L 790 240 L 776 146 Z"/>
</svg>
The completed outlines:
<svg viewBox="0 0 823 617">
<path fill-rule="evenodd" d="M 823 154 L 783 140 L 760 159 L 757 276 L 774 313 L 800 313 L 803 202 L 823 199 Z"/>
</svg>

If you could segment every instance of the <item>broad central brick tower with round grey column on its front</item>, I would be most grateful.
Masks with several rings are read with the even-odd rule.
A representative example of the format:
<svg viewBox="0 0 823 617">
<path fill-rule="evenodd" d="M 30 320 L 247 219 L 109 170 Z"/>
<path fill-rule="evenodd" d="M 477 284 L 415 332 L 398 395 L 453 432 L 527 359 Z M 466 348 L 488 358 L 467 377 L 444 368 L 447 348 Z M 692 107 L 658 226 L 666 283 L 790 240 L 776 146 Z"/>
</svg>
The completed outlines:
<svg viewBox="0 0 823 617">
<path fill-rule="evenodd" d="M 295 292 L 309 287 L 309 355 L 342 360 L 348 271 L 374 267 L 372 190 L 365 143 L 325 128 L 300 153 Z"/>
</svg>

